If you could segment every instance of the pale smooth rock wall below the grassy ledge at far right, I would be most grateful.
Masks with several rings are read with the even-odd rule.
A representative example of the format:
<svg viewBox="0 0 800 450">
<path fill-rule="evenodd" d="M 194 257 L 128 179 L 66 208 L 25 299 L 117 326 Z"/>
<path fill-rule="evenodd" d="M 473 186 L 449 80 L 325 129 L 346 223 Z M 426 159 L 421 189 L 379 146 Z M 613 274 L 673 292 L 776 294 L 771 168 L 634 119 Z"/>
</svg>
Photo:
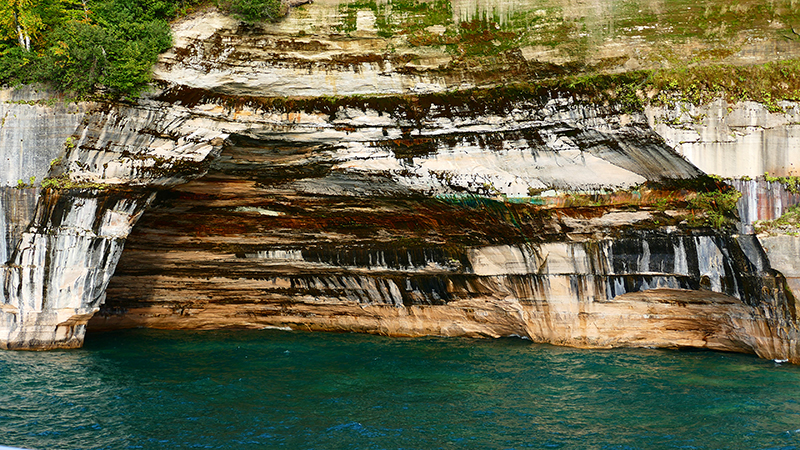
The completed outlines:
<svg viewBox="0 0 800 450">
<path fill-rule="evenodd" d="M 737 204 L 739 231 L 753 233 L 753 222 L 779 218 L 800 203 L 800 195 L 763 175 L 800 174 L 800 104 L 780 102 L 770 111 L 755 102 L 716 100 L 694 106 L 648 107 L 646 115 L 665 142 L 709 174 L 733 178 L 742 193 Z"/>
</svg>

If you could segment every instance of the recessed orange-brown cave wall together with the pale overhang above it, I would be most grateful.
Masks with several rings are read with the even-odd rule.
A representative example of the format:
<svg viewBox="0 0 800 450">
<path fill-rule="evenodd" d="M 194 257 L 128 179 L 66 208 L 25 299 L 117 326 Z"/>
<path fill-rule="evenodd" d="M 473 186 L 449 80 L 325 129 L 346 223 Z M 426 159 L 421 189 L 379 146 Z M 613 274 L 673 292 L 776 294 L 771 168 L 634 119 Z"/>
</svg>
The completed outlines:
<svg viewBox="0 0 800 450">
<path fill-rule="evenodd" d="M 570 98 L 502 114 L 433 102 L 412 128 L 394 104 L 276 114 L 206 95 L 191 123 L 229 145 L 206 176 L 159 194 L 92 327 L 517 335 L 796 358 L 794 325 L 767 319 L 793 324 L 794 298 L 757 241 L 679 228 L 654 209 L 532 204 L 543 189 L 699 175 L 642 114 Z"/>
</svg>

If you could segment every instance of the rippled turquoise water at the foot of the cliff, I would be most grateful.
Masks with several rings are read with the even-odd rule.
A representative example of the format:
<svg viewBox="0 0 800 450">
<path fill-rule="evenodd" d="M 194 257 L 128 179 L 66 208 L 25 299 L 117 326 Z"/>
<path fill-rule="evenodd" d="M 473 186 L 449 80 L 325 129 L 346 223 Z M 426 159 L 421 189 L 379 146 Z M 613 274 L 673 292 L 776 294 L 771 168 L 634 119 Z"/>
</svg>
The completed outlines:
<svg viewBox="0 0 800 450">
<path fill-rule="evenodd" d="M 800 367 L 725 353 L 132 330 L 0 352 L 0 386 L 38 449 L 800 448 Z"/>
</svg>

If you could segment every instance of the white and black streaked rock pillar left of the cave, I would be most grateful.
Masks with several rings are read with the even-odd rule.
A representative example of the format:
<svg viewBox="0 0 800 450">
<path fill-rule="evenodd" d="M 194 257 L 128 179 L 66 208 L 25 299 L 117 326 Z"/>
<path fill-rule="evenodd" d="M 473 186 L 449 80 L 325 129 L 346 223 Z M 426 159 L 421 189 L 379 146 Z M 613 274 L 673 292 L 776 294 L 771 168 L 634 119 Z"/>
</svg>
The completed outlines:
<svg viewBox="0 0 800 450">
<path fill-rule="evenodd" d="M 4 95 L 17 98 L 31 92 Z M 29 183 L 38 178 L 48 187 L 11 188 L 7 186 L 12 179 L 3 180 L 2 348 L 81 346 L 86 322 L 105 299 L 125 238 L 152 199 L 147 190 L 128 188 L 200 176 L 202 161 L 221 148 L 217 135 L 187 132 L 170 139 L 146 126 L 131 132 L 136 120 L 132 111 L 72 106 L 46 94 L 40 99 L 45 101 L 3 104 L 13 116 L 4 123 L 5 139 L 15 144 L 19 137 L 26 145 L 19 152 L 16 145 L 2 147 L 2 159 L 10 168 L 4 176 L 30 173 Z M 144 106 L 136 111 L 145 117 L 153 113 Z M 87 124 L 100 135 L 90 134 Z M 92 144 L 104 149 L 98 151 Z M 155 153 L 142 157 L 145 149 Z"/>
</svg>

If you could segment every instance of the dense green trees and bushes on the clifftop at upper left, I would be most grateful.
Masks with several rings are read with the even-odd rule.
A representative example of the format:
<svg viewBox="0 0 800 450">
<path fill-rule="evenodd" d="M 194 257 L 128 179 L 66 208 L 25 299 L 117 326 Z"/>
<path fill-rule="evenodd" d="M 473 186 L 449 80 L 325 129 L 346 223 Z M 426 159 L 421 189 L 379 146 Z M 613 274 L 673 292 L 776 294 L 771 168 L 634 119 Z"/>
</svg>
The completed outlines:
<svg viewBox="0 0 800 450">
<path fill-rule="evenodd" d="M 48 83 L 78 96 L 136 97 L 158 54 L 172 45 L 169 20 L 204 0 L 4 0 L 0 83 Z M 276 20 L 279 0 L 220 0 L 246 21 Z"/>
</svg>

